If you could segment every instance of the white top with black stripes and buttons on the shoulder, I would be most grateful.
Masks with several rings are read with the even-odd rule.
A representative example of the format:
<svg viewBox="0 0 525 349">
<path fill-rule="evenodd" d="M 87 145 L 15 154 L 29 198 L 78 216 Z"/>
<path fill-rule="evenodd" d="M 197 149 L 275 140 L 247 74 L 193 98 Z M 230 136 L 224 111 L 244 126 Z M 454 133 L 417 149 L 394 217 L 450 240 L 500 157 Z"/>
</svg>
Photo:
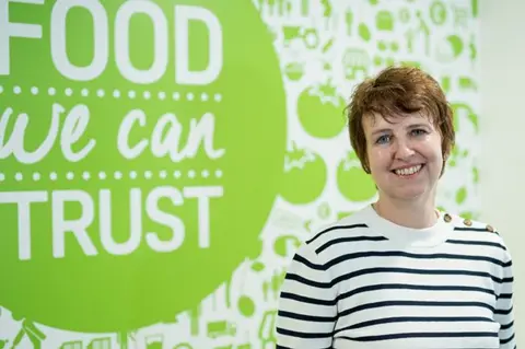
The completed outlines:
<svg viewBox="0 0 525 349">
<path fill-rule="evenodd" d="M 306 241 L 281 288 L 277 348 L 515 348 L 502 237 L 440 216 L 412 231 L 366 206 Z"/>
</svg>

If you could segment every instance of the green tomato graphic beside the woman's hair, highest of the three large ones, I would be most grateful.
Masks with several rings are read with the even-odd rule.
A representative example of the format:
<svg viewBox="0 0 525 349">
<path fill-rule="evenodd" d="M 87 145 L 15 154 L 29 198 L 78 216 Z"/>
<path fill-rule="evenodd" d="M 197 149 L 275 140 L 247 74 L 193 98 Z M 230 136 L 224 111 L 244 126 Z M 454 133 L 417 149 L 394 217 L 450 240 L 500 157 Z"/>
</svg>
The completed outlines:
<svg viewBox="0 0 525 349">
<path fill-rule="evenodd" d="M 312 137 L 328 139 L 345 129 L 345 98 L 330 83 L 306 88 L 298 98 L 301 126 Z"/>
</svg>

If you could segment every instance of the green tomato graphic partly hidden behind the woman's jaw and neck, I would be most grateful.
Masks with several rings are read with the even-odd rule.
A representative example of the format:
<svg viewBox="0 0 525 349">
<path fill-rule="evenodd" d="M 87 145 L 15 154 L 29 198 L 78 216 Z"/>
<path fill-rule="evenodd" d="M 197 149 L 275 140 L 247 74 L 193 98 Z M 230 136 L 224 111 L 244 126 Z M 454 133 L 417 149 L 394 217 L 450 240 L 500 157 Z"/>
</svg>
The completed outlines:
<svg viewBox="0 0 525 349">
<path fill-rule="evenodd" d="M 361 167 L 353 151 L 347 153 L 337 166 L 337 187 L 350 201 L 365 201 L 374 197 L 377 189 L 369 174 Z"/>
</svg>

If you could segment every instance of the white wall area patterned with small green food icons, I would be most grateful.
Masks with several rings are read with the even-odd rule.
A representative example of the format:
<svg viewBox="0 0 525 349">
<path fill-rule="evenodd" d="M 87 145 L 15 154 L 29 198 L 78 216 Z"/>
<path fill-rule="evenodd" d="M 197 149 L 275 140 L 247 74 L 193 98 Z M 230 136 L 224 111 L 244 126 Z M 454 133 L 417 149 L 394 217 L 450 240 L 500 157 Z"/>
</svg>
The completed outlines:
<svg viewBox="0 0 525 349">
<path fill-rule="evenodd" d="M 392 63 L 421 67 L 445 89 L 456 112 L 458 136 L 439 202 L 444 209 L 477 216 L 476 1 L 253 0 L 253 4 L 275 38 L 289 130 L 285 185 L 260 232 L 260 255 L 240 265 L 231 280 L 197 309 L 174 314 L 172 323 L 136 331 L 67 331 L 13 319 L 9 309 L 0 309 L 0 348 L 12 348 L 16 337 L 16 348 L 33 344 L 61 349 L 273 348 L 279 287 L 295 246 L 375 199 L 375 187 L 350 149 L 342 109 L 355 83 Z"/>
</svg>

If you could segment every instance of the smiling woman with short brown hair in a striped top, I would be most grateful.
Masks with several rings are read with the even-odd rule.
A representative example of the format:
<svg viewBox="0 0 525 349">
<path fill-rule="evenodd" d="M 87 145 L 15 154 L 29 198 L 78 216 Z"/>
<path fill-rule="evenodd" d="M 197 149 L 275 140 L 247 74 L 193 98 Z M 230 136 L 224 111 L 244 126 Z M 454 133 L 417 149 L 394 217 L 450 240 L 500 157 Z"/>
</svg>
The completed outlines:
<svg viewBox="0 0 525 349">
<path fill-rule="evenodd" d="M 281 288 L 277 348 L 515 348 L 502 237 L 435 208 L 455 139 L 436 81 L 385 69 L 357 86 L 348 117 L 378 199 L 299 248 Z"/>
</svg>

